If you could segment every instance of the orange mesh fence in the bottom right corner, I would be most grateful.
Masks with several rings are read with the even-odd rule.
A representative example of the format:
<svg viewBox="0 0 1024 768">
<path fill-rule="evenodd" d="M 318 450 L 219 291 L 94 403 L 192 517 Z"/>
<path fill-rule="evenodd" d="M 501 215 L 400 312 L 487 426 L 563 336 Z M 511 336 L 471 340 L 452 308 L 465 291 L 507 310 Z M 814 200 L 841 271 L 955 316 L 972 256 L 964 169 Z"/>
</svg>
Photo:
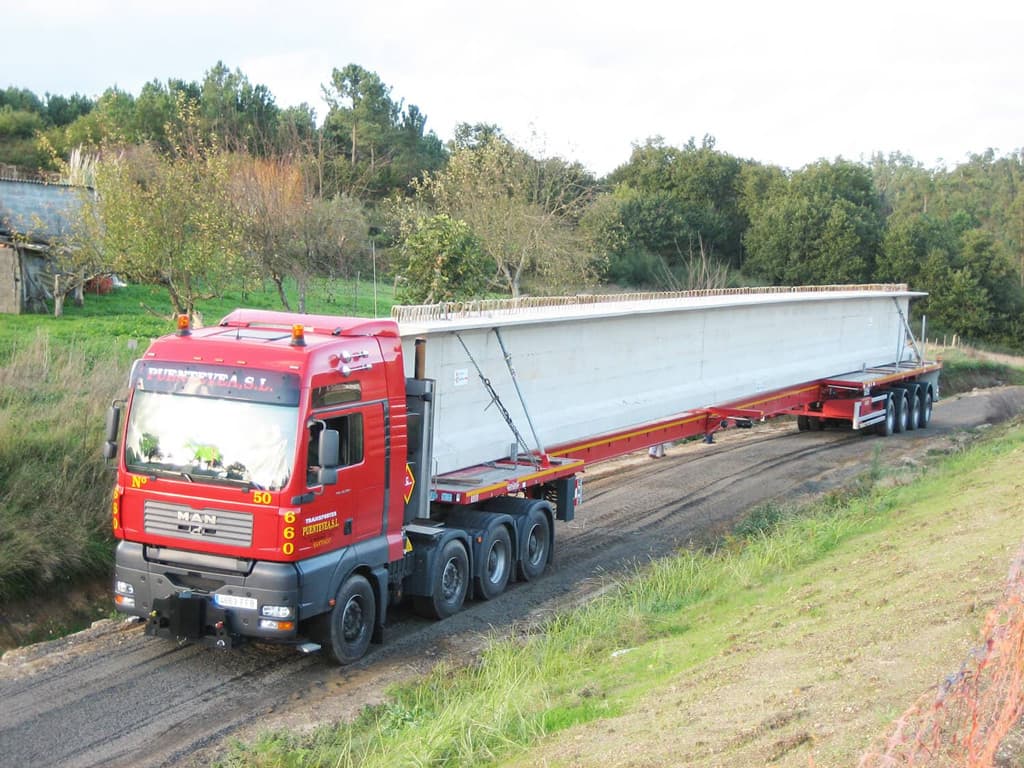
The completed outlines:
<svg viewBox="0 0 1024 768">
<path fill-rule="evenodd" d="M 1024 546 L 1007 591 L 985 620 L 981 640 L 959 671 L 893 724 L 859 768 L 990 768 L 1024 714 Z M 996 762 L 999 760 L 1000 762 Z"/>
</svg>

